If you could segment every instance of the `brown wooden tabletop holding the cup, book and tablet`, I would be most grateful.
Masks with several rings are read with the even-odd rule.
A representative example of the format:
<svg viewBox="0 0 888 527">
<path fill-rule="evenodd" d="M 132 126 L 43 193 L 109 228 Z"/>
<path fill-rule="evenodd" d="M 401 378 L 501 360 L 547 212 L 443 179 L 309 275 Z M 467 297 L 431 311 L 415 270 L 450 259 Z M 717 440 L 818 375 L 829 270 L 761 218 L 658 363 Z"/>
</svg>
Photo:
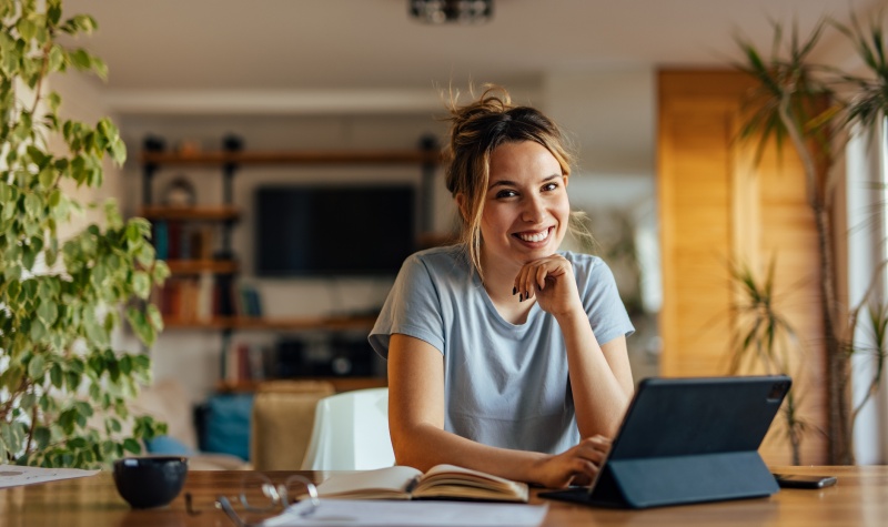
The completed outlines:
<svg viewBox="0 0 888 527">
<path fill-rule="evenodd" d="M 780 467 L 788 474 L 830 474 L 838 485 L 821 490 L 783 489 L 770 498 L 744 499 L 646 510 L 615 510 L 543 500 L 545 526 L 886 526 L 888 466 Z M 182 494 L 169 506 L 131 510 L 117 494 L 110 473 L 0 490 L 0 525 L 42 526 L 216 526 L 232 527 L 213 508 L 216 495 L 238 494 L 243 472 L 192 472 Z M 291 474 L 314 480 L 330 473 L 268 473 L 275 482 Z M 185 493 L 201 513 L 189 515 Z M 252 519 L 256 519 L 253 517 Z"/>
</svg>

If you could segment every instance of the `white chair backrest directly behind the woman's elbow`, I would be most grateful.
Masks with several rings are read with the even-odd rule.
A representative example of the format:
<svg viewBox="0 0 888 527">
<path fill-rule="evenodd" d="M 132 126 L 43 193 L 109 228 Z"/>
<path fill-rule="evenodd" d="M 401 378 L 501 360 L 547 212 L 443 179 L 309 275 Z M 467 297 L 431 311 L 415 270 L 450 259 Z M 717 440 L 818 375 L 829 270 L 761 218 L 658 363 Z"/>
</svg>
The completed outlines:
<svg viewBox="0 0 888 527">
<path fill-rule="evenodd" d="M 303 470 L 366 470 L 394 464 L 389 388 L 355 389 L 317 402 Z"/>
</svg>

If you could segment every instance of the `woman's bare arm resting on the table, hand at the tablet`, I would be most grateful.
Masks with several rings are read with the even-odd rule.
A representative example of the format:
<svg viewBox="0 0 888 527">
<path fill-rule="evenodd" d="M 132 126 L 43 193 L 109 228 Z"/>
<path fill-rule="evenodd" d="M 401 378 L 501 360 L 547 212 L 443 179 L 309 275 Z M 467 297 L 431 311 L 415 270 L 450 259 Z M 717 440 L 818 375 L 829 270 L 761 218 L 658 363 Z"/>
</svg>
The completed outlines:
<svg viewBox="0 0 888 527">
<path fill-rule="evenodd" d="M 444 430 L 444 359 L 418 338 L 393 334 L 389 345 L 389 429 L 395 462 L 420 470 L 446 463 L 559 488 L 587 482 L 609 442 L 587 438 L 558 455 L 482 445 Z"/>
</svg>

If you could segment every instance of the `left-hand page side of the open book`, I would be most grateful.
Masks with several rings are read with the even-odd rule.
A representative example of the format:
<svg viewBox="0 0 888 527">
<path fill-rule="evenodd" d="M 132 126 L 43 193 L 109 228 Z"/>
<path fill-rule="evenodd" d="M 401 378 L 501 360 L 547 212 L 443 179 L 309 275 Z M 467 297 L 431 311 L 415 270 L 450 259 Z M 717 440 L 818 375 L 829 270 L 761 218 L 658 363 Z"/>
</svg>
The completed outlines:
<svg viewBox="0 0 888 527">
<path fill-rule="evenodd" d="M 408 499 L 407 485 L 417 476 L 422 476 L 420 470 L 404 466 L 336 474 L 317 486 L 317 495 L 322 498 Z"/>
</svg>

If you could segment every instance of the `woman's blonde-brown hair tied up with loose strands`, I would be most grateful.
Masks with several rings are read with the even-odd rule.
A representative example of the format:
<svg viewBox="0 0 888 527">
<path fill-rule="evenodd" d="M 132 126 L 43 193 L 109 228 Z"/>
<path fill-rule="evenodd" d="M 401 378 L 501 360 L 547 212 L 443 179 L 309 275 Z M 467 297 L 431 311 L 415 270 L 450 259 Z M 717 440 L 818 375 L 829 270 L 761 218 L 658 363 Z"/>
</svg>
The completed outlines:
<svg viewBox="0 0 888 527">
<path fill-rule="evenodd" d="M 463 195 L 460 243 L 483 280 L 481 270 L 481 217 L 484 196 L 491 179 L 491 154 L 505 143 L 534 141 L 558 161 L 564 176 L 571 175 L 573 156 L 562 131 L 541 111 L 512 104 L 508 92 L 495 84 L 485 84 L 474 102 L 458 107 L 451 98 L 450 141 L 446 183 L 454 199 Z M 588 231 L 572 214 L 571 231 L 587 237 Z M 584 233 L 585 232 L 585 233 Z"/>
</svg>

